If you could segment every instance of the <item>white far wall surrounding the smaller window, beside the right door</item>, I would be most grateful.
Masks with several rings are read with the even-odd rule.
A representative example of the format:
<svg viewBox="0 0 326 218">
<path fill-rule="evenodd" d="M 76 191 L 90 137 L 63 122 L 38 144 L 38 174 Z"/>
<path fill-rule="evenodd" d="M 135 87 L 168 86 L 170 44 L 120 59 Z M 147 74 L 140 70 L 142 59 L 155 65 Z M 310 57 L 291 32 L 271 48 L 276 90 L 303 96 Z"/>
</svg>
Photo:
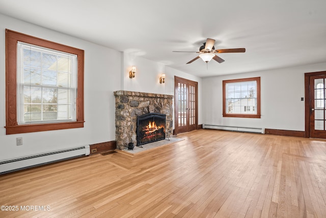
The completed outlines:
<svg viewBox="0 0 326 218">
<path fill-rule="evenodd" d="M 307 72 L 326 70 L 326 62 L 260 72 L 202 79 L 203 124 L 305 130 L 305 78 Z M 260 76 L 261 118 L 223 117 L 222 81 Z"/>
</svg>

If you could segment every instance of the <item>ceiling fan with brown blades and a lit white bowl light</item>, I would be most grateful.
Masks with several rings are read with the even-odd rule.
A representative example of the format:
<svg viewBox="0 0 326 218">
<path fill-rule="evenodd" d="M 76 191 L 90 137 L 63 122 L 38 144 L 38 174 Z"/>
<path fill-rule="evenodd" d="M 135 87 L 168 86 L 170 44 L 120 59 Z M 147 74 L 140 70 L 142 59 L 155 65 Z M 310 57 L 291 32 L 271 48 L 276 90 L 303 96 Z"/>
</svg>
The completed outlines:
<svg viewBox="0 0 326 218">
<path fill-rule="evenodd" d="M 204 45 L 200 46 L 199 51 L 173 51 L 173 52 L 196 52 L 200 53 L 199 56 L 189 61 L 187 64 L 190 64 L 197 59 L 201 58 L 204 62 L 208 63 L 210 60 L 214 59 L 215 61 L 222 63 L 224 60 L 215 53 L 233 53 L 233 52 L 246 52 L 246 48 L 228 48 L 228 49 L 216 49 L 214 47 L 215 40 L 207 38 Z"/>
</svg>

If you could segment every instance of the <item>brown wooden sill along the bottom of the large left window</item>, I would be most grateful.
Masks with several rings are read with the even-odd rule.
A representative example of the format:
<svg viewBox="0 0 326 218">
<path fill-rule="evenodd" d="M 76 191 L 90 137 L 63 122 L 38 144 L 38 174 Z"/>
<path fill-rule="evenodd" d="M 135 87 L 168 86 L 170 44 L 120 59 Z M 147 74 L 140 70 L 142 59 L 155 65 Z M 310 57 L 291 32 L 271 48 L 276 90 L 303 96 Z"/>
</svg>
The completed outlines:
<svg viewBox="0 0 326 218">
<path fill-rule="evenodd" d="M 28 124 L 17 126 L 5 126 L 6 134 L 18 134 L 27 132 L 40 132 L 59 129 L 83 128 L 85 121 L 66 122 L 66 123 L 47 123 L 47 124 Z"/>
</svg>

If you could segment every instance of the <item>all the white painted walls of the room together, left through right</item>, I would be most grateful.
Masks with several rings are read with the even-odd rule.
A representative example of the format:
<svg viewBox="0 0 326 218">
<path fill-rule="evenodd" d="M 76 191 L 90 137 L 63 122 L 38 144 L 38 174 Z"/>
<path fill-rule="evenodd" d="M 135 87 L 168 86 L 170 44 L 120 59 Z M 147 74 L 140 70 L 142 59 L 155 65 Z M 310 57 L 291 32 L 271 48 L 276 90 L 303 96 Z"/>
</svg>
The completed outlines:
<svg viewBox="0 0 326 218">
<path fill-rule="evenodd" d="M 200 78 L 141 56 L 96 45 L 0 14 L 0 160 L 115 140 L 114 91 L 174 95 L 174 76 L 198 81 L 199 124 L 304 130 L 304 73 L 326 70 L 326 63 L 238 75 Z M 6 135 L 5 29 L 85 50 L 85 127 Z M 129 78 L 131 66 L 137 67 Z M 166 83 L 159 76 L 166 73 Z M 261 119 L 222 117 L 222 80 L 261 77 Z M 16 138 L 23 145 L 16 146 Z"/>
</svg>

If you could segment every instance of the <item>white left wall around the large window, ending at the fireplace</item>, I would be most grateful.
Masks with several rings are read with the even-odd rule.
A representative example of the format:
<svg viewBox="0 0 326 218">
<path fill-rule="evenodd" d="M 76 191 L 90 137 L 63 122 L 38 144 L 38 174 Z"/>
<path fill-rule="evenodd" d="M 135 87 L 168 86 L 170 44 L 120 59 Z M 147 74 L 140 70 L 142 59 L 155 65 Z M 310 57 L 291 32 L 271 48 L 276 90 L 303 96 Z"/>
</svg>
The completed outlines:
<svg viewBox="0 0 326 218">
<path fill-rule="evenodd" d="M 0 14 L 0 160 L 115 140 L 115 98 L 121 52 Z M 84 128 L 6 135 L 5 29 L 85 50 Z M 23 145 L 16 146 L 16 137 Z"/>
</svg>

